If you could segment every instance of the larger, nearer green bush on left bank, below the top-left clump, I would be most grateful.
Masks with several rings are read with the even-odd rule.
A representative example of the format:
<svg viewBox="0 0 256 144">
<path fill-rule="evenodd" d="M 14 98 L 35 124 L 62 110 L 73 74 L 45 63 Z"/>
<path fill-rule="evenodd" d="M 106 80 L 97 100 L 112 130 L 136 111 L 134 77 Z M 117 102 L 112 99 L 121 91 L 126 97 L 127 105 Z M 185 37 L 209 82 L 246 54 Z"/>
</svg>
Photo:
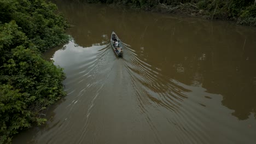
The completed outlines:
<svg viewBox="0 0 256 144">
<path fill-rule="evenodd" d="M 0 27 L 0 143 L 41 124 L 40 112 L 65 95 L 65 74 L 45 61 L 15 21 Z"/>
</svg>

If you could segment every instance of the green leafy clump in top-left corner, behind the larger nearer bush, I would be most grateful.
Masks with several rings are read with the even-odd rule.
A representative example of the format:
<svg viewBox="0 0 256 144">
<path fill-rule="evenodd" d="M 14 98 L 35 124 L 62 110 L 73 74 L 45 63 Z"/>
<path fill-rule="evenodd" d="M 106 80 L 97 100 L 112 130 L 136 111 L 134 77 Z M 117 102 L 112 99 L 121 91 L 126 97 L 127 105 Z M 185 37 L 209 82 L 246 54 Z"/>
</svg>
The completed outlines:
<svg viewBox="0 0 256 144">
<path fill-rule="evenodd" d="M 42 52 L 68 40 L 66 20 L 57 13 L 55 4 L 45 0 L 1 0 L 0 15 L 0 23 L 16 21 Z"/>
</svg>

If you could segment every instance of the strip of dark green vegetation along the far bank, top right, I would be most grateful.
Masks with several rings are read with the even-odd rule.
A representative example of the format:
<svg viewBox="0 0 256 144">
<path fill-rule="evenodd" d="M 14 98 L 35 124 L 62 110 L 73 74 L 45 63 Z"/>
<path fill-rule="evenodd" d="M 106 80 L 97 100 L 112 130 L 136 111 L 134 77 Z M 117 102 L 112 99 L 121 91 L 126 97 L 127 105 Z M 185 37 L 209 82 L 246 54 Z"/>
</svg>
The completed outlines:
<svg viewBox="0 0 256 144">
<path fill-rule="evenodd" d="M 126 4 L 145 10 L 182 13 L 206 19 L 236 20 L 238 24 L 256 26 L 255 0 L 73 0 L 89 3 Z"/>
</svg>

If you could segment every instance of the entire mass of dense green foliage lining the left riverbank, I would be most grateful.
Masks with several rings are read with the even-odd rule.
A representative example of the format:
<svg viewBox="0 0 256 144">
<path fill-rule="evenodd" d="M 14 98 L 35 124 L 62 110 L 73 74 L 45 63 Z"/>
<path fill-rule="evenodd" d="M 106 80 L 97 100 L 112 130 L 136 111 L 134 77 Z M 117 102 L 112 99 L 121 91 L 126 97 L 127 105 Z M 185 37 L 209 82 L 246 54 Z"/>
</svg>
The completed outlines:
<svg viewBox="0 0 256 144">
<path fill-rule="evenodd" d="M 68 40 L 63 16 L 45 0 L 0 1 L 0 143 L 46 121 L 46 106 L 65 95 L 65 74 L 41 52 Z"/>
</svg>

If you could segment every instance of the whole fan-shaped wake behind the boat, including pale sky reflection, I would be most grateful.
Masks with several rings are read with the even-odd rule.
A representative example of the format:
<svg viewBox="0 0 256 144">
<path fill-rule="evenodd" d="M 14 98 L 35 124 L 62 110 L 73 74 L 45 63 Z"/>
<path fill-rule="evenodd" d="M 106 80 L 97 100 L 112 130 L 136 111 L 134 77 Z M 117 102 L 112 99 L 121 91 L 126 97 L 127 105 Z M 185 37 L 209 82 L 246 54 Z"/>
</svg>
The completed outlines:
<svg viewBox="0 0 256 144">
<path fill-rule="evenodd" d="M 211 143 L 222 128 L 239 134 L 223 121 L 232 111 L 222 106 L 222 95 L 177 81 L 150 60 L 147 47 L 122 43 L 122 58 L 106 41 L 89 47 L 69 41 L 55 52 L 67 96 L 46 113 L 46 126 L 31 130 L 28 142 Z"/>
</svg>

